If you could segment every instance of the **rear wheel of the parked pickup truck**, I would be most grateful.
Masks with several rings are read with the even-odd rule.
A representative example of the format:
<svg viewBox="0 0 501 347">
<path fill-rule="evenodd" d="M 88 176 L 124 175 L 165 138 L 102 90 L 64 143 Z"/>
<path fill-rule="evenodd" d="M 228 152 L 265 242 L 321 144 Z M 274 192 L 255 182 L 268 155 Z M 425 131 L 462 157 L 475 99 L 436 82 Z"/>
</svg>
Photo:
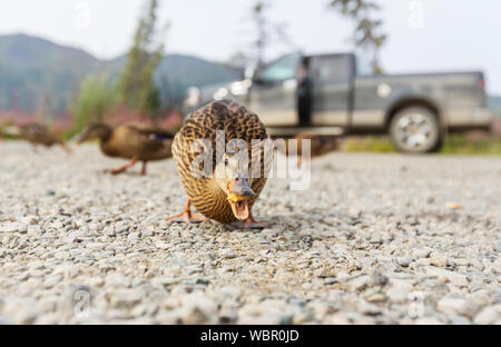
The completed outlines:
<svg viewBox="0 0 501 347">
<path fill-rule="evenodd" d="M 435 151 L 441 146 L 436 115 L 424 107 L 409 107 L 396 112 L 390 123 L 393 145 L 404 152 Z"/>
</svg>

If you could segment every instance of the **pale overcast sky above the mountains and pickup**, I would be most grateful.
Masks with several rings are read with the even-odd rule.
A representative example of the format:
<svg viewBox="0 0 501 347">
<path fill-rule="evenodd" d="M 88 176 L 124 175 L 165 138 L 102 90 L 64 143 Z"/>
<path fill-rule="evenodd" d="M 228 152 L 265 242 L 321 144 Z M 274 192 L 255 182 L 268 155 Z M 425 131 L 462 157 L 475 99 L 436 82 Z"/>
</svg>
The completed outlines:
<svg viewBox="0 0 501 347">
<path fill-rule="evenodd" d="M 352 24 L 328 10 L 328 0 L 269 0 L 269 18 L 286 22 L 304 51 L 351 50 Z M 252 39 L 252 0 L 163 0 L 169 21 L 167 52 L 227 60 Z M 389 40 L 382 52 L 387 72 L 483 70 L 488 88 L 501 95 L 501 1 L 381 1 Z M 0 6 L 0 34 L 23 32 L 114 58 L 130 44 L 144 0 L 16 0 Z M 89 9 L 88 20 L 86 9 Z M 291 50 L 277 44 L 269 57 Z"/>
</svg>

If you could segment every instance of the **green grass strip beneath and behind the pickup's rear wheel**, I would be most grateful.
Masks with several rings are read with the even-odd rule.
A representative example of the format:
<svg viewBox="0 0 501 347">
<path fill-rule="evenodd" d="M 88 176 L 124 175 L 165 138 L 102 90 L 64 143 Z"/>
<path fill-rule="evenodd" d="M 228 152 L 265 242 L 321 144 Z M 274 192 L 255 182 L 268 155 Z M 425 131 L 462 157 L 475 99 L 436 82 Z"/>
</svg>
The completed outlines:
<svg viewBox="0 0 501 347">
<path fill-rule="evenodd" d="M 344 152 L 396 152 L 386 136 L 347 137 L 342 145 Z M 440 153 L 448 155 L 501 155 L 501 137 L 478 133 L 450 135 Z"/>
</svg>

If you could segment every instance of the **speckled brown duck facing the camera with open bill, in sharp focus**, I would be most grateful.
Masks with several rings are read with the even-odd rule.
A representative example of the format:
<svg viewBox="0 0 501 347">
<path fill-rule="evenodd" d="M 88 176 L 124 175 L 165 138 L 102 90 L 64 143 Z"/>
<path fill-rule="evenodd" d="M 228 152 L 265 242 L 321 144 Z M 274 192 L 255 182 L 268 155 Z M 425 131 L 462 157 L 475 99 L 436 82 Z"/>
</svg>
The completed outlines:
<svg viewBox="0 0 501 347">
<path fill-rule="evenodd" d="M 228 141 L 236 139 L 247 143 L 247 152 L 244 152 L 248 159 L 247 166 L 242 165 L 246 161 L 242 160 L 245 158 L 240 158 L 240 152 L 229 155 L 223 149 L 224 153 L 217 153 L 217 130 L 224 131 L 224 148 Z M 193 112 L 173 143 L 173 156 L 188 199 L 185 210 L 168 220 L 196 222 L 209 218 L 242 228 L 263 228 L 264 225 L 254 219 L 252 207 L 266 184 L 264 148 L 253 148 L 252 141 L 267 138 L 266 128 L 259 118 L 237 102 L 213 101 Z M 212 168 L 205 177 L 193 170 L 193 163 L 197 166 L 196 158 L 204 151 L 194 150 L 194 143 L 199 139 L 212 148 L 212 153 L 208 151 Z M 204 165 L 199 165 L 199 169 L 205 170 Z M 247 175 L 250 167 L 257 167 L 261 172 L 254 176 L 258 177 Z M 204 217 L 191 214 L 191 204 Z"/>
</svg>

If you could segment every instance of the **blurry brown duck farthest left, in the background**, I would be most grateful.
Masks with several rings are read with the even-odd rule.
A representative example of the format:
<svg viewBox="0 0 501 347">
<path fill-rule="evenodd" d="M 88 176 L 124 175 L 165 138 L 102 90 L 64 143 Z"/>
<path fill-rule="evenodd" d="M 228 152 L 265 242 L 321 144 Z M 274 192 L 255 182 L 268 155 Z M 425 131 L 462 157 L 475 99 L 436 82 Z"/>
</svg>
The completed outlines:
<svg viewBox="0 0 501 347">
<path fill-rule="evenodd" d="M 4 129 L 4 132 L 14 137 L 19 137 L 31 143 L 33 151 L 37 151 L 37 146 L 42 145 L 46 147 L 52 147 L 59 145 L 67 152 L 71 150 L 65 145 L 65 142 L 52 132 L 48 127 L 39 123 L 29 123 L 23 126 L 10 126 Z"/>
</svg>

